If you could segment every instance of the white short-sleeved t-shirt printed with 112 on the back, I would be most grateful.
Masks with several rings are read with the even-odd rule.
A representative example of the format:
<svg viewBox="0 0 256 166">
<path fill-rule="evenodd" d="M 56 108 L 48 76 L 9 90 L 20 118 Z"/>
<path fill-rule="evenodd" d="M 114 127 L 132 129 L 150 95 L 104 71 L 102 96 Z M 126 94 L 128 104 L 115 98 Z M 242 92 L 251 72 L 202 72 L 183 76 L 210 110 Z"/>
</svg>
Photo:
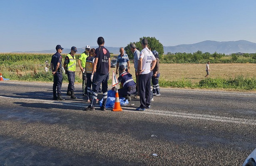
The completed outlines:
<svg viewBox="0 0 256 166">
<path fill-rule="evenodd" d="M 139 55 L 139 58 L 142 58 L 142 70 L 144 70 L 141 74 L 150 73 L 150 64 L 152 61 L 156 60 L 152 51 L 150 51 L 147 47 L 145 47 Z"/>
</svg>

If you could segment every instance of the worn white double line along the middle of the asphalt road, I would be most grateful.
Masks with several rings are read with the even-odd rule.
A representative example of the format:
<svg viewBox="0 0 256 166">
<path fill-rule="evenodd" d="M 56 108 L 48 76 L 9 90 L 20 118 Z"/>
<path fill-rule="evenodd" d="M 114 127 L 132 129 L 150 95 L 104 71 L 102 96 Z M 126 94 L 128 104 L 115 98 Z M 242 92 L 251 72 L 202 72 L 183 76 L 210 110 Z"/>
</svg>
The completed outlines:
<svg viewBox="0 0 256 166">
<path fill-rule="evenodd" d="M 29 100 L 29 101 L 36 101 L 44 104 L 65 105 L 65 106 L 83 107 L 83 108 L 89 105 L 89 103 L 82 103 L 82 102 L 74 103 L 73 101 L 72 101 L 73 103 L 69 103 L 67 101 L 40 100 L 40 99 L 13 98 L 13 97 L 10 98 L 5 96 L 0 96 L 0 98 Z M 246 124 L 246 125 L 256 125 L 256 120 L 250 120 L 250 119 L 244 119 L 244 118 L 222 117 L 222 116 L 216 116 L 216 115 L 193 114 L 193 113 L 153 110 L 153 109 L 146 109 L 146 111 L 135 111 L 135 110 L 130 110 L 129 106 L 122 106 L 122 108 L 124 112 L 181 117 L 181 118 L 187 118 L 187 119 L 211 120 L 216 122 L 228 122 L 228 123 Z"/>
</svg>

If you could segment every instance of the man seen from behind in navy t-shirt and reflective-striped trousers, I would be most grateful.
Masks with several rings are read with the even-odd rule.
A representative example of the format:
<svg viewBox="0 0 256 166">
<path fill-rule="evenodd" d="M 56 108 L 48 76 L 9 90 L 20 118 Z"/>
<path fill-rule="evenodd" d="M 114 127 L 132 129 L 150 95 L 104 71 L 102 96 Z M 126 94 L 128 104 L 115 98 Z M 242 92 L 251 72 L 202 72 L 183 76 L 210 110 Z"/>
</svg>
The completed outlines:
<svg viewBox="0 0 256 166">
<path fill-rule="evenodd" d="M 104 47 L 104 38 L 98 37 L 97 43 L 99 47 L 95 50 L 94 63 L 92 69 L 92 77 L 95 72 L 94 82 L 92 84 L 92 101 L 91 104 L 85 108 L 85 111 L 94 111 L 94 105 L 97 100 L 99 86 L 102 83 L 103 102 L 100 109 L 106 111 L 107 103 L 107 81 L 109 79 L 110 71 L 110 54 Z M 91 78 L 92 81 L 92 78 Z"/>
</svg>

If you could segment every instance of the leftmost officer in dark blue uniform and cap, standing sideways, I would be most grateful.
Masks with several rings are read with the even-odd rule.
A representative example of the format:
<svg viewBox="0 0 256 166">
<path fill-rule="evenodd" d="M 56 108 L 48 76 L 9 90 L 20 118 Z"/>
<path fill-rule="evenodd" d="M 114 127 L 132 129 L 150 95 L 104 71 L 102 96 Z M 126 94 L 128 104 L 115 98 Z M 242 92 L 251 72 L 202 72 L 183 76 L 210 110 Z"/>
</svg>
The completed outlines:
<svg viewBox="0 0 256 166">
<path fill-rule="evenodd" d="M 62 56 L 60 55 L 62 53 L 63 48 L 60 45 L 56 46 L 56 53 L 52 55 L 51 60 L 51 69 L 53 74 L 53 86 L 52 86 L 52 92 L 53 92 L 53 99 L 52 100 L 65 100 L 61 97 L 61 85 L 62 85 Z M 57 87 L 57 95 L 56 96 L 56 87 Z"/>
</svg>

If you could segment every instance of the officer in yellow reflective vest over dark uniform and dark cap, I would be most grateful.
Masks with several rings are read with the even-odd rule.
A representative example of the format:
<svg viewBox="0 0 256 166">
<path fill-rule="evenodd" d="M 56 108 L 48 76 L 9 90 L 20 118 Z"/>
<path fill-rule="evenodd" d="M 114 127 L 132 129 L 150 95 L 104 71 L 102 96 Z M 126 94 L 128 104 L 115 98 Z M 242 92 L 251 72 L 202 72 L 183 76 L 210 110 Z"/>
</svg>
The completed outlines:
<svg viewBox="0 0 256 166">
<path fill-rule="evenodd" d="M 70 95 L 72 99 L 76 99 L 75 96 L 75 71 L 76 71 L 76 57 L 75 54 L 77 52 L 77 48 L 75 46 L 71 47 L 70 54 L 67 54 L 64 61 L 65 73 L 67 74 L 68 79 L 68 87 L 67 87 L 67 95 Z"/>
</svg>

